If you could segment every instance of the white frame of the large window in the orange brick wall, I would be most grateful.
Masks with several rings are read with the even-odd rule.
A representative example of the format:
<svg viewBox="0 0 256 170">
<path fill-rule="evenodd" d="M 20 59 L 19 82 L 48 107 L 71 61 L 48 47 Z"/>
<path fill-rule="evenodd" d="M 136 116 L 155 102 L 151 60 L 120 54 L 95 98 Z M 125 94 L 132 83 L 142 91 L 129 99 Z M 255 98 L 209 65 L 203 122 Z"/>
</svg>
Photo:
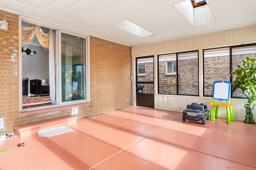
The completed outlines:
<svg viewBox="0 0 256 170">
<path fill-rule="evenodd" d="M 79 104 L 89 104 L 90 103 L 90 35 L 87 35 L 85 33 L 72 30 L 72 29 L 66 29 L 61 26 L 53 25 L 51 23 L 47 23 L 44 21 L 38 21 L 26 16 L 19 16 L 19 25 L 22 25 L 22 22 L 34 24 L 34 25 L 40 25 L 42 27 L 46 27 L 48 29 L 54 29 L 55 30 L 55 70 L 56 70 L 56 78 L 55 78 L 55 88 L 56 88 L 56 105 L 48 105 L 48 106 L 38 106 L 38 107 L 29 107 L 29 108 L 22 108 L 22 83 L 20 83 L 20 112 L 30 112 L 30 111 L 36 111 L 36 110 L 43 110 L 43 109 L 50 109 L 52 107 L 62 107 L 62 106 L 70 106 L 70 105 L 79 105 Z M 61 87 L 62 80 L 61 80 L 61 33 L 66 33 L 69 35 L 78 36 L 85 39 L 85 68 L 84 68 L 84 99 L 81 100 L 72 100 L 69 102 L 62 102 L 62 94 L 61 94 Z M 19 47 L 22 47 L 22 29 L 21 26 L 19 27 Z M 20 53 L 20 82 L 22 79 L 22 55 Z"/>
</svg>

